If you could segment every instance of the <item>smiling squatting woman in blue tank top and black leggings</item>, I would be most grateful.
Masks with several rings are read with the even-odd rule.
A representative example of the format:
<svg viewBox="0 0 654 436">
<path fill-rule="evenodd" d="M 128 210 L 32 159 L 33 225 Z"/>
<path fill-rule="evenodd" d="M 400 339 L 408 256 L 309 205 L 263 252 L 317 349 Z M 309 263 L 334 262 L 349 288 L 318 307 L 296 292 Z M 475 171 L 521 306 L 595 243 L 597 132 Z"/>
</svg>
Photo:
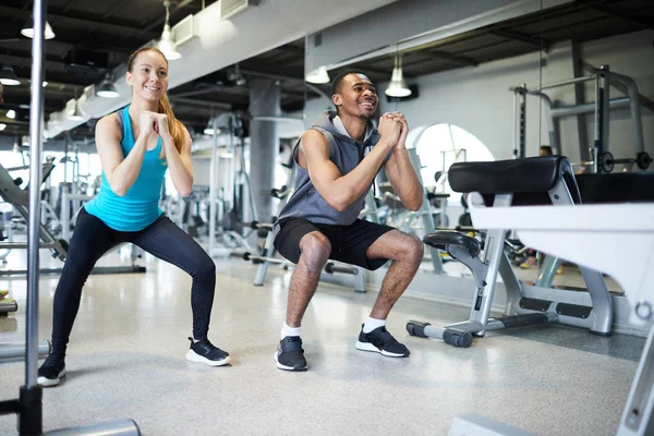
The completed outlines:
<svg viewBox="0 0 654 436">
<path fill-rule="evenodd" d="M 230 362 L 207 332 L 216 286 L 216 266 L 207 253 L 170 219 L 159 199 L 166 170 L 186 196 L 193 185 L 191 136 L 174 118 L 166 90 L 168 61 L 154 47 L 134 52 L 125 74 L 132 102 L 100 119 L 96 147 L 102 165 L 98 195 L 80 210 L 68 259 L 57 286 L 52 352 L 38 370 L 43 386 L 65 376 L 65 348 L 80 308 L 82 287 L 96 262 L 112 246 L 131 242 L 191 275 L 193 338 L 186 359 L 211 366 Z"/>
</svg>

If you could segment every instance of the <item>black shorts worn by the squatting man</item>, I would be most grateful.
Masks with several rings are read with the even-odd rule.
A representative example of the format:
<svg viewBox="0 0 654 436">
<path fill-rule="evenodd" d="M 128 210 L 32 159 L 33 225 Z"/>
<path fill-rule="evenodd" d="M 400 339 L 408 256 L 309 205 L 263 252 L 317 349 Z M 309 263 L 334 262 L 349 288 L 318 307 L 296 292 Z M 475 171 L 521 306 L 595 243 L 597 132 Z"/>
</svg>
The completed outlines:
<svg viewBox="0 0 654 436">
<path fill-rule="evenodd" d="M 329 258 L 375 270 L 388 262 L 386 258 L 365 256 L 367 249 L 380 235 L 395 228 L 358 219 L 350 226 L 320 225 L 304 218 L 288 218 L 279 222 L 275 249 L 283 257 L 296 264 L 300 261 L 300 240 L 306 233 L 319 231 L 331 243 Z"/>
</svg>

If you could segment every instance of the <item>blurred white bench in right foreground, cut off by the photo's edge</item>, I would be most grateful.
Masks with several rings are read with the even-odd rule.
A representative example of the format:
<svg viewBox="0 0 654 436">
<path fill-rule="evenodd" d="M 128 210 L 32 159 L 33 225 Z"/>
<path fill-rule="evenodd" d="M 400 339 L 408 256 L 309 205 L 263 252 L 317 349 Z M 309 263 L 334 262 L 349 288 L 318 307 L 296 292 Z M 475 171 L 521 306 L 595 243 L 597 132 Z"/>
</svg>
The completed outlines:
<svg viewBox="0 0 654 436">
<path fill-rule="evenodd" d="M 475 225 L 492 230 L 510 227 L 529 246 L 610 275 L 625 290 L 630 308 L 629 322 L 649 328 L 617 436 L 654 434 L 653 177 L 652 173 L 621 173 L 583 178 L 586 195 L 597 192 L 597 187 L 610 185 L 617 192 L 620 186 L 630 202 L 626 204 L 614 204 L 619 197 L 610 194 L 605 204 L 500 209 L 486 207 L 477 193 L 469 197 Z M 594 203 L 600 202 L 597 197 L 593 199 Z M 495 431 L 497 423 L 489 421 L 479 416 L 472 420 L 457 417 L 449 435 L 522 434 L 513 428 L 506 431 L 506 427 Z"/>
</svg>

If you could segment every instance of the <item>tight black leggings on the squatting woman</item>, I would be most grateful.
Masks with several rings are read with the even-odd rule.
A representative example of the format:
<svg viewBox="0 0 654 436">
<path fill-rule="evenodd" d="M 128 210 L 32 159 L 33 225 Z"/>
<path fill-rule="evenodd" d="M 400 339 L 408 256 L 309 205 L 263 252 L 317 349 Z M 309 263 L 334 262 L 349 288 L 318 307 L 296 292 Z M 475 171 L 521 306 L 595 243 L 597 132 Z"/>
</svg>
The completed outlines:
<svg viewBox="0 0 654 436">
<path fill-rule="evenodd" d="M 111 247 L 124 242 L 131 242 L 191 275 L 193 337 L 197 340 L 207 338 L 216 288 L 216 265 L 197 242 L 164 215 L 143 230 L 122 232 L 109 228 L 82 208 L 55 292 L 52 354 L 65 354 L 80 310 L 82 287 L 96 262 Z"/>
</svg>

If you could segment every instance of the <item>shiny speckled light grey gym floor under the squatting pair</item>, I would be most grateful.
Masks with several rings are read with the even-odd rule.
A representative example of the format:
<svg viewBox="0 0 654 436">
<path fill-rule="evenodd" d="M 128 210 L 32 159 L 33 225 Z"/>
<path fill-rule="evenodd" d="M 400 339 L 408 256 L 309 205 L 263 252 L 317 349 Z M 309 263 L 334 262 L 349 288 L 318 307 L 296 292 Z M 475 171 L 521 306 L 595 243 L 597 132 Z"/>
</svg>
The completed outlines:
<svg viewBox="0 0 654 436">
<path fill-rule="evenodd" d="M 123 252 L 100 265 L 126 264 Z M 41 259 L 55 265 L 46 252 Z M 24 252 L 9 261 L 25 267 Z M 217 259 L 209 338 L 232 364 L 214 368 L 184 360 L 191 279 L 149 256 L 143 264 L 146 274 L 87 280 L 69 375 L 44 390 L 44 429 L 131 417 L 144 435 L 447 435 L 455 416 L 476 412 L 538 435 L 615 435 L 644 344 L 546 326 L 456 349 L 410 337 L 404 325 L 456 322 L 469 311 L 405 296 L 388 327 L 411 356 L 395 360 L 354 348 L 376 293 L 320 283 L 302 326 L 310 371 L 288 373 L 272 360 L 288 272 L 271 268 L 267 284 L 254 287 L 255 266 Z M 50 337 L 57 281 L 40 281 L 40 339 Z M 20 305 L 0 319 L 0 342 L 22 341 L 26 281 L 0 278 L 0 289 Z M 1 362 L 0 400 L 16 398 L 22 384 L 24 362 Z M 15 416 L 0 416 L 0 434 L 15 428 Z"/>
</svg>

